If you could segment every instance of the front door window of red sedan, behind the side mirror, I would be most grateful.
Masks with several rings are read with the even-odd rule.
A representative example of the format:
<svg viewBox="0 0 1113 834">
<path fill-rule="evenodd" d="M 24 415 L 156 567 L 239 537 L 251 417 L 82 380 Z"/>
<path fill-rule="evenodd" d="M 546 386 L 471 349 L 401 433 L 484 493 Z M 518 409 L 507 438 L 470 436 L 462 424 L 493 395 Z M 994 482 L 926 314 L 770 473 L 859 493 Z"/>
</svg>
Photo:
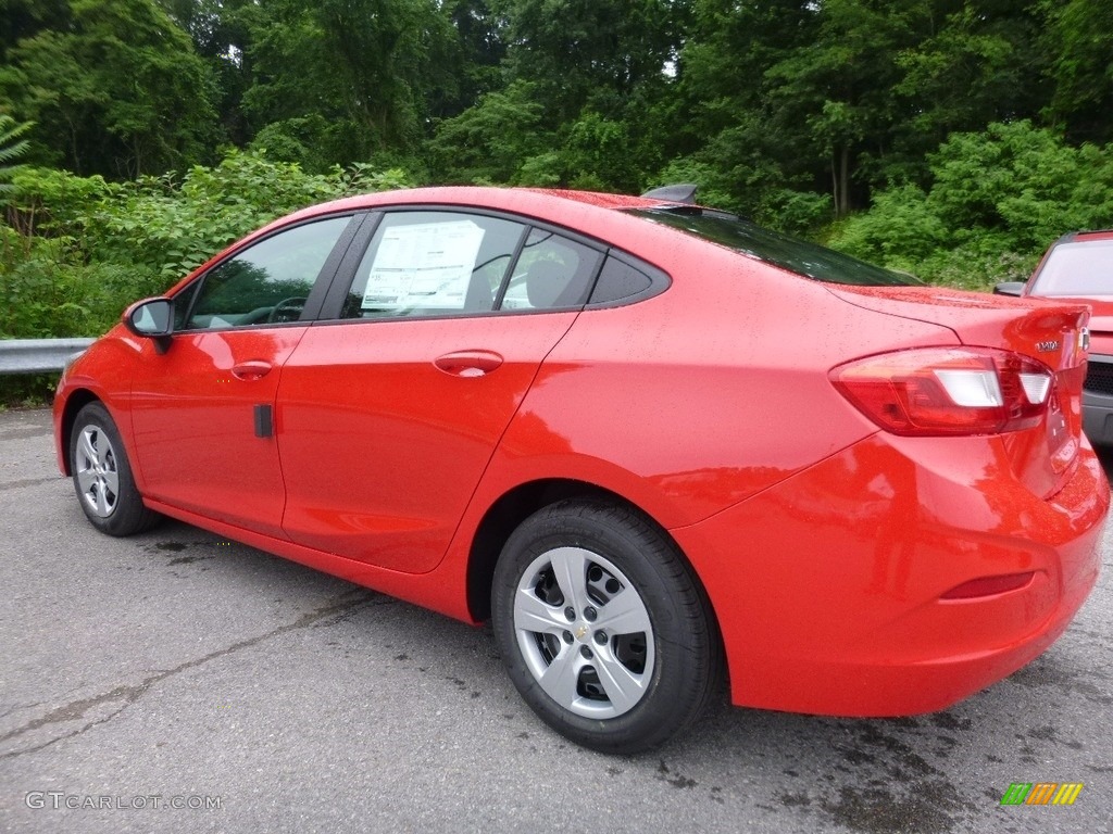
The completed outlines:
<svg viewBox="0 0 1113 834">
<path fill-rule="evenodd" d="M 176 300 L 179 327 L 209 330 L 297 321 L 321 270 L 351 218 L 318 220 L 253 244 L 210 269 Z M 185 301 L 184 304 L 177 304 Z"/>
</svg>

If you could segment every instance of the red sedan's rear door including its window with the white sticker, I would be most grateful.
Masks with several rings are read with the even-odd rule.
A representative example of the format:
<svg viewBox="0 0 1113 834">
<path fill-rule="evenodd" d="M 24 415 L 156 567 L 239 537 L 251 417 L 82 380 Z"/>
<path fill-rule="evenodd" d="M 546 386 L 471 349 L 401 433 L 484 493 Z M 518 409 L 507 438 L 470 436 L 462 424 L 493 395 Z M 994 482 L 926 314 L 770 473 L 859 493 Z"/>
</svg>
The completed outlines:
<svg viewBox="0 0 1113 834">
<path fill-rule="evenodd" d="M 326 301 L 333 320 L 309 328 L 283 370 L 289 538 L 432 569 L 600 261 L 515 219 L 383 215 L 354 279 Z"/>
</svg>

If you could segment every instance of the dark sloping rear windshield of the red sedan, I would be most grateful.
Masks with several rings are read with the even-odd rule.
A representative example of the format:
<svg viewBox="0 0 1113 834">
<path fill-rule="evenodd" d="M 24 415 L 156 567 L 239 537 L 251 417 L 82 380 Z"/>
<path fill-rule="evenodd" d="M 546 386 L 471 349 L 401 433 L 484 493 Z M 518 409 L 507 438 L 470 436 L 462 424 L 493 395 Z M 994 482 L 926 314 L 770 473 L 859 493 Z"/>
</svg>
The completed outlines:
<svg viewBox="0 0 1113 834">
<path fill-rule="evenodd" d="M 817 244 L 762 229 L 721 211 L 639 209 L 632 214 L 819 281 L 866 287 L 922 284 L 912 276 L 890 272 Z"/>
</svg>

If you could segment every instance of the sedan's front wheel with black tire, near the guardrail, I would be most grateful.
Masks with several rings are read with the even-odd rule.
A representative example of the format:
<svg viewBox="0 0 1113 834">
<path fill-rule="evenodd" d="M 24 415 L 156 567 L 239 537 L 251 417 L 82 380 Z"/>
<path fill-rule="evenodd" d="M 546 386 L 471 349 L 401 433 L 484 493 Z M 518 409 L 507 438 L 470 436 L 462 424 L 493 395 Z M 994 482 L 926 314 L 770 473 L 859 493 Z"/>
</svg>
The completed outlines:
<svg viewBox="0 0 1113 834">
<path fill-rule="evenodd" d="M 101 533 L 131 536 L 161 518 L 144 506 L 120 433 L 100 403 L 89 403 L 77 413 L 69 455 L 78 504 Z"/>
</svg>

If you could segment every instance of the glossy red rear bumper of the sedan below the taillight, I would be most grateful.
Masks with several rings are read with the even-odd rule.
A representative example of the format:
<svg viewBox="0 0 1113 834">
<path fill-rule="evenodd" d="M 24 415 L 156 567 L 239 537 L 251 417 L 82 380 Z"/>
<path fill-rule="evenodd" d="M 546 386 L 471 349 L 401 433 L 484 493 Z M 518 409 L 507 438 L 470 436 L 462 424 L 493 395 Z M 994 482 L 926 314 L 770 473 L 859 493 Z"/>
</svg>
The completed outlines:
<svg viewBox="0 0 1113 834">
<path fill-rule="evenodd" d="M 673 529 L 711 597 L 732 701 L 934 712 L 1046 649 L 1096 582 L 1109 484 L 1086 448 L 1065 488 L 1042 500 L 1005 460 L 999 438 L 875 435 Z M 1027 572 L 1015 590 L 943 598 Z"/>
</svg>

